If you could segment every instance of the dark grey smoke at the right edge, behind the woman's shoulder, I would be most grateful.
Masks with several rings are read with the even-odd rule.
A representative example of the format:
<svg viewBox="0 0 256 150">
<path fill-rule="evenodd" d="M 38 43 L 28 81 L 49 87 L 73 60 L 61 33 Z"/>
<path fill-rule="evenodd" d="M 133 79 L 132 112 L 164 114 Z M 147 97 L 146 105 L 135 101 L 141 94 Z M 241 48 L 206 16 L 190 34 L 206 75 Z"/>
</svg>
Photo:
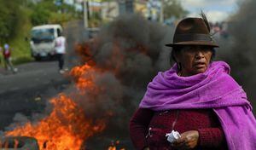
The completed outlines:
<svg viewBox="0 0 256 150">
<path fill-rule="evenodd" d="M 229 38 L 219 40 L 219 59 L 227 61 L 231 75 L 246 90 L 249 101 L 256 107 L 256 1 L 241 3 L 238 12 L 229 19 Z M 254 109 L 255 113 L 255 109 Z"/>
</svg>

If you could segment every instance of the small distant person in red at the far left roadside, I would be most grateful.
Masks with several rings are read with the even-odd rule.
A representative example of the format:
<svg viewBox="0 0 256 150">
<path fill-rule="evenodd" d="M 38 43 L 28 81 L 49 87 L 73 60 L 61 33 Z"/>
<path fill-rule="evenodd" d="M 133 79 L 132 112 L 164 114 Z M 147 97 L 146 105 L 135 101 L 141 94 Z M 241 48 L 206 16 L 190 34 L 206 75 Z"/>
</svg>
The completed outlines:
<svg viewBox="0 0 256 150">
<path fill-rule="evenodd" d="M 13 73 L 18 72 L 17 68 L 15 68 L 11 61 L 11 49 L 9 48 L 9 44 L 5 43 L 3 46 L 3 64 L 6 70 L 11 70 Z"/>
</svg>

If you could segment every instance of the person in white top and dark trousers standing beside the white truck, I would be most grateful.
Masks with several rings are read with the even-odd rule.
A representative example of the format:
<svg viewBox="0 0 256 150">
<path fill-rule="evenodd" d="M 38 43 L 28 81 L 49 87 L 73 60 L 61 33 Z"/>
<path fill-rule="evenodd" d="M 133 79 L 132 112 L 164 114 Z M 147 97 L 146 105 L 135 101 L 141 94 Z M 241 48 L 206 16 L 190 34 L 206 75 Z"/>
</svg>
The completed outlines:
<svg viewBox="0 0 256 150">
<path fill-rule="evenodd" d="M 57 30 L 58 38 L 55 39 L 55 53 L 58 60 L 59 72 L 62 74 L 64 66 L 64 55 L 66 54 L 66 38 L 62 36 L 61 30 Z"/>
</svg>

